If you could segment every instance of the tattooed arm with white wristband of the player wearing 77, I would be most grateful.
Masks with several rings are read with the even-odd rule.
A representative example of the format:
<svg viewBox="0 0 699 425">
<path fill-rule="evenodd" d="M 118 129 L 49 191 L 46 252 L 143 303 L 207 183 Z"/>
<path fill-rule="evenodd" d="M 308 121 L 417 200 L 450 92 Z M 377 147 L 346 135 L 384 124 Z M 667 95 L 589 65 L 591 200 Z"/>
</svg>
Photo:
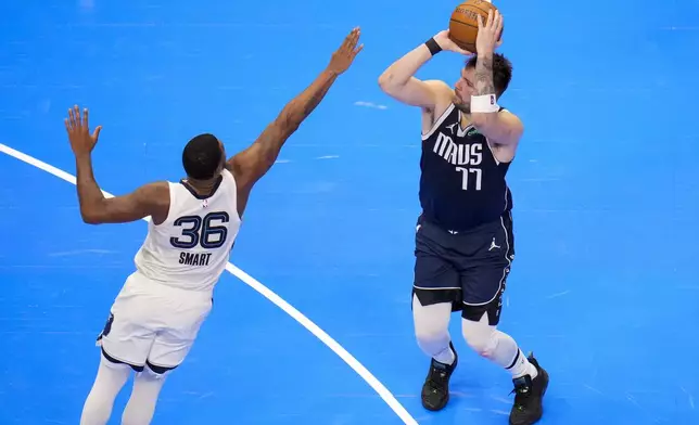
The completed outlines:
<svg viewBox="0 0 699 425">
<path fill-rule="evenodd" d="M 503 31 L 503 15 L 498 11 L 488 11 L 488 17 L 483 24 L 479 15 L 479 33 L 475 39 L 478 52 L 474 72 L 474 93 L 471 96 L 471 123 L 478 130 L 493 142 L 500 145 L 516 145 L 524 126 L 522 121 L 507 111 L 499 112 L 497 93 L 493 81 L 494 51 L 499 46 Z"/>
</svg>

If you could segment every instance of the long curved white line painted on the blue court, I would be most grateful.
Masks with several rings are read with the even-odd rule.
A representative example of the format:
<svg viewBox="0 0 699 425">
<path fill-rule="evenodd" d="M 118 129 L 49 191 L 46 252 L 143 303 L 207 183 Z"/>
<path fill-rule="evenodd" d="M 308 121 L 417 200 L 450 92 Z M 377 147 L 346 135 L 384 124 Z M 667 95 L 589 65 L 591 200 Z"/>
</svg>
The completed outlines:
<svg viewBox="0 0 699 425">
<path fill-rule="evenodd" d="M 13 150 L 12 147 L 4 145 L 0 143 L 0 152 L 8 154 L 14 158 L 17 158 L 24 163 L 27 163 L 29 165 L 33 165 L 50 175 L 53 175 L 58 177 L 59 179 L 65 180 L 68 183 L 76 184 L 75 176 L 69 175 L 63 170 L 60 170 L 45 162 L 41 162 L 33 156 L 29 156 L 27 154 L 24 154 L 20 151 Z M 102 191 L 105 197 L 114 197 L 111 193 Z M 150 217 L 144 218 L 144 221 L 148 221 Z M 233 274 L 236 278 L 240 279 L 243 281 L 243 283 L 247 284 L 251 286 L 253 289 L 257 291 L 259 294 L 262 294 L 265 298 L 269 299 L 272 304 L 275 304 L 277 307 L 282 309 L 287 314 L 291 315 L 296 322 L 301 323 L 302 326 L 308 330 L 312 334 L 314 334 L 318 339 L 320 339 L 325 345 L 327 345 L 332 351 L 334 351 L 335 355 L 340 356 L 342 360 L 350 365 L 364 381 L 367 382 L 373 388 L 379 396 L 383 399 L 383 401 L 389 404 L 389 408 L 391 408 L 395 414 L 401 417 L 403 423 L 406 425 L 418 425 L 418 422 L 408 413 L 407 410 L 396 400 L 396 398 L 389 391 L 389 389 L 379 382 L 379 379 L 376 378 L 365 368 L 357 359 L 354 358 L 347 350 L 345 350 L 338 342 L 335 342 L 330 335 L 328 335 L 323 330 L 318 327 L 317 324 L 315 324 L 310 319 L 306 318 L 301 311 L 296 310 L 292 305 L 289 302 L 284 301 L 279 295 L 275 294 L 271 289 L 269 289 L 267 286 L 263 285 L 259 283 L 255 278 L 251 276 L 250 274 L 245 273 L 238 267 L 233 266 L 232 263 L 226 265 L 226 270 L 228 270 L 231 274 Z"/>
</svg>

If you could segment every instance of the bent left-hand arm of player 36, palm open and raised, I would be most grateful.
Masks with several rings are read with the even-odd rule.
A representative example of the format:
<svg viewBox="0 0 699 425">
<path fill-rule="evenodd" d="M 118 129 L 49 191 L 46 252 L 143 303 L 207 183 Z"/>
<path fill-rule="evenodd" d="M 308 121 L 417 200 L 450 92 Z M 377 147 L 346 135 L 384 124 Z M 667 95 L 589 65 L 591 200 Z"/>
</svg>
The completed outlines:
<svg viewBox="0 0 699 425">
<path fill-rule="evenodd" d="M 75 154 L 76 185 L 82 221 L 90 224 L 120 223 L 152 216 L 153 221 L 160 223 L 167 218 L 169 208 L 167 182 L 145 184 L 125 196 L 104 197 L 94 180 L 91 158 L 102 127 L 98 126 L 90 134 L 87 110 L 84 111 L 82 116 L 77 105 L 69 110 L 68 118 L 65 119 L 65 129 Z"/>
</svg>

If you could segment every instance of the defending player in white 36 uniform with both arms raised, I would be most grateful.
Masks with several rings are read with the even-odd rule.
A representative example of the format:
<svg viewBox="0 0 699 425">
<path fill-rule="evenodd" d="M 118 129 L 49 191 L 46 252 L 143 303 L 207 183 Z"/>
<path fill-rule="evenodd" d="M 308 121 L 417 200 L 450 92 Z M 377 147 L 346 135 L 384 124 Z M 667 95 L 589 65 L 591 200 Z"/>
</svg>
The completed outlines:
<svg viewBox="0 0 699 425">
<path fill-rule="evenodd" d="M 149 424 L 168 372 L 182 363 L 212 308 L 214 286 L 226 267 L 251 189 L 275 164 L 287 139 L 323 99 L 363 46 L 355 28 L 326 69 L 281 111 L 246 150 L 226 160 L 212 134 L 189 141 L 182 153 L 187 178 L 154 182 L 105 198 L 94 181 L 88 111 L 68 111 L 65 126 L 77 163 L 80 215 L 87 223 L 150 218 L 136 255 L 136 272 L 119 292 L 98 337 L 101 359 L 85 401 L 81 425 L 105 424 L 114 399 L 136 371 L 122 424 Z"/>
</svg>

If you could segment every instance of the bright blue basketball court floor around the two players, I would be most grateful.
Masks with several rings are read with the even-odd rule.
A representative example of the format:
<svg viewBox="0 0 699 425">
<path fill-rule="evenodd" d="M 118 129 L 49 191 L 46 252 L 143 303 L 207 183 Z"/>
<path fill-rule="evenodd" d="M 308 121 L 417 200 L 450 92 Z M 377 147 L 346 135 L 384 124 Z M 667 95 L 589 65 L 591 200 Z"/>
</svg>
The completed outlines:
<svg viewBox="0 0 699 425">
<path fill-rule="evenodd" d="M 500 103 L 526 128 L 508 175 L 517 259 L 501 330 L 550 373 L 541 423 L 697 424 L 699 3 L 496 5 L 514 64 Z M 458 315 L 452 402 L 420 404 L 419 112 L 377 83 L 455 7 L 3 2 L 0 424 L 78 423 L 94 338 L 145 234 L 143 221 L 80 220 L 67 108 L 104 127 L 104 191 L 176 181 L 192 136 L 247 146 L 354 26 L 365 50 L 255 189 L 234 266 L 153 423 L 507 424 L 510 376 L 456 338 Z M 419 76 L 454 82 L 461 64 L 440 54 Z"/>
</svg>

